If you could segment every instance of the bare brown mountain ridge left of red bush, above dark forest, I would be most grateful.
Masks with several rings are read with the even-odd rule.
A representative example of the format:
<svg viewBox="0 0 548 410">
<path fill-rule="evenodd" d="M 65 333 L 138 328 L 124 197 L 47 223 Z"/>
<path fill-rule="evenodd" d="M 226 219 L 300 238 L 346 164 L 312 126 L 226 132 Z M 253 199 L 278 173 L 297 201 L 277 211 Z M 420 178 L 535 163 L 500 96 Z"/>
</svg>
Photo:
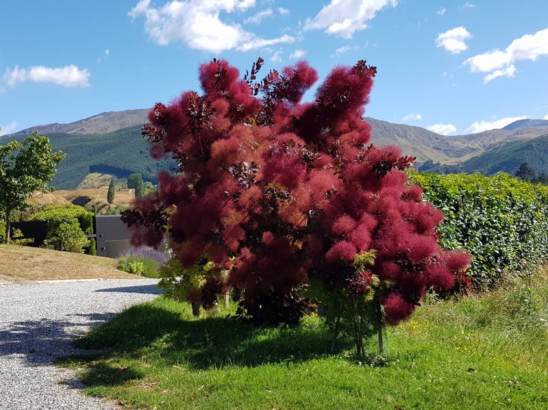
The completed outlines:
<svg viewBox="0 0 548 410">
<path fill-rule="evenodd" d="M 38 130 L 40 135 L 49 133 L 69 133 L 78 135 L 105 134 L 118 131 L 119 129 L 133 127 L 134 125 L 148 123 L 147 114 L 149 110 L 149 108 L 146 108 L 141 110 L 103 112 L 102 114 L 97 114 L 90 118 L 85 118 L 84 120 L 78 120 L 69 124 L 53 123 L 35 125 L 34 127 L 21 129 L 21 131 L 0 138 L 12 138 L 21 135 L 29 136 L 35 129 Z"/>
</svg>

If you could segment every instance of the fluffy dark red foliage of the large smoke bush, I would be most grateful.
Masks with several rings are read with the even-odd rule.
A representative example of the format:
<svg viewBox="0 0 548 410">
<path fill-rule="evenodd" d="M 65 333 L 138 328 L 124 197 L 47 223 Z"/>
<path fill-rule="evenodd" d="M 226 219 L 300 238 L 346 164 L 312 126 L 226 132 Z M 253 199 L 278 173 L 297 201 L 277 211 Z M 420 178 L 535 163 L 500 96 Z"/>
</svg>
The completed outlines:
<svg viewBox="0 0 548 410">
<path fill-rule="evenodd" d="M 162 173 L 158 194 L 124 214 L 134 242 L 159 242 L 168 227 L 182 264 L 207 254 L 229 269 L 242 311 L 263 322 L 297 320 L 307 279 L 356 297 L 373 290 L 388 324 L 407 318 L 429 287 L 453 287 L 469 259 L 440 250 L 443 214 L 403 172 L 414 158 L 369 144 L 362 116 L 376 68 L 336 67 L 301 103 L 314 68 L 297 62 L 258 80 L 263 64 L 243 79 L 225 60 L 202 64 L 203 94 L 151 110 L 142 129 L 151 153 L 173 157 L 179 172 Z M 371 249 L 375 264 L 356 272 L 354 257 Z"/>
</svg>

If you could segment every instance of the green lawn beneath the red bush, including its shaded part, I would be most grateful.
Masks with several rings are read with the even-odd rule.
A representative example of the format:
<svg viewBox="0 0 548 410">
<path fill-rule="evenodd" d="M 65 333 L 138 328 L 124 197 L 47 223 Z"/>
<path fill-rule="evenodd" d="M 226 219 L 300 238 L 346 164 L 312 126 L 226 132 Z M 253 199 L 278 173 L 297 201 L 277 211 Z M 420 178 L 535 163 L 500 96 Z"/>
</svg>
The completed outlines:
<svg viewBox="0 0 548 410">
<path fill-rule="evenodd" d="M 547 319 L 545 273 L 427 303 L 389 329 L 388 364 L 372 367 L 345 341 L 327 354 L 320 318 L 261 328 L 226 311 L 194 319 L 188 305 L 158 298 L 77 341 L 108 353 L 61 364 L 84 366 L 87 394 L 129 409 L 543 409 Z"/>
</svg>

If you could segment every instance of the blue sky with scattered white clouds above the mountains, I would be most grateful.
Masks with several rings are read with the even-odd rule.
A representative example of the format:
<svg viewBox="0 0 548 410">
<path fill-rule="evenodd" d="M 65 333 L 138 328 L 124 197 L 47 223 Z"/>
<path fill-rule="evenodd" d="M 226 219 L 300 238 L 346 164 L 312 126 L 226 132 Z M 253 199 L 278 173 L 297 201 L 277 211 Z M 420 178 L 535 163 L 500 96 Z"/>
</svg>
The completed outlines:
<svg viewBox="0 0 548 410">
<path fill-rule="evenodd" d="M 1 134 L 169 103 L 225 58 L 321 79 L 365 59 L 366 116 L 458 135 L 548 119 L 548 1 L 17 0 L 0 23 Z M 313 98 L 310 93 L 308 98 Z"/>
</svg>

